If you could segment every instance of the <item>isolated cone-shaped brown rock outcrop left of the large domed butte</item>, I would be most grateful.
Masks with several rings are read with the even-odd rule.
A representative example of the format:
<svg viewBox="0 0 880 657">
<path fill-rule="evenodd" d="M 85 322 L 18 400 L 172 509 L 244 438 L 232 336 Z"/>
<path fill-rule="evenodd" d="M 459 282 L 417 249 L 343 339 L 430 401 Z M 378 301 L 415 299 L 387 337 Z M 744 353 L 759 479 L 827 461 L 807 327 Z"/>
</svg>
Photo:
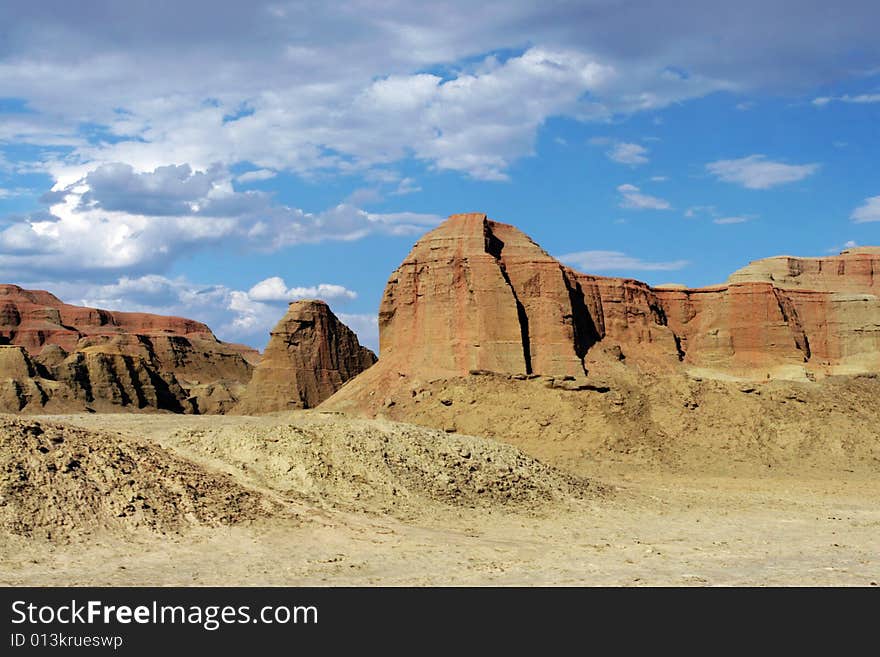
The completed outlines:
<svg viewBox="0 0 880 657">
<path fill-rule="evenodd" d="M 291 303 L 270 335 L 236 412 L 312 408 L 376 362 L 323 301 Z"/>
</svg>

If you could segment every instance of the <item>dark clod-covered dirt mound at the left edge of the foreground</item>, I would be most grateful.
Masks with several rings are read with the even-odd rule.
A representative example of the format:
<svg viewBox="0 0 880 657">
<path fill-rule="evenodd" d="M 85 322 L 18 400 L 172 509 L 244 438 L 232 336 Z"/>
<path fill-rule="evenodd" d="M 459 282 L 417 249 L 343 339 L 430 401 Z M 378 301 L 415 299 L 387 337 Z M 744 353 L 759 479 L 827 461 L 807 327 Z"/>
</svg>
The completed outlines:
<svg viewBox="0 0 880 657">
<path fill-rule="evenodd" d="M 227 475 L 119 435 L 0 417 L 0 527 L 55 542 L 97 531 L 178 532 L 265 515 Z"/>
</svg>

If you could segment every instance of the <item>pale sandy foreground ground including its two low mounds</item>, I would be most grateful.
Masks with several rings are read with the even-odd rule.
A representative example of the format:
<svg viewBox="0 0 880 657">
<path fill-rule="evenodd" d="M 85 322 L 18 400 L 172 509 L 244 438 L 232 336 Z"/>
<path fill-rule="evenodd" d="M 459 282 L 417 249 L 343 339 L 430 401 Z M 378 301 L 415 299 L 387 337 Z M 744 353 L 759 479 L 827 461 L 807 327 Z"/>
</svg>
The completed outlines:
<svg viewBox="0 0 880 657">
<path fill-rule="evenodd" d="M 320 410 L 4 421 L 5 440 L 25 442 L 4 445 L 0 469 L 3 585 L 880 581 L 873 463 L 734 467 L 728 450 L 727 467 L 547 449 L 542 462 L 529 456 L 537 441 L 520 451 Z M 16 456 L 28 449 L 30 460 Z M 126 450 L 139 458 L 126 461 Z M 53 454 L 85 478 L 40 483 Z M 120 468 L 108 463 L 119 462 L 140 464 L 132 479 L 111 481 Z M 27 479 L 45 499 L 28 495 Z"/>
</svg>

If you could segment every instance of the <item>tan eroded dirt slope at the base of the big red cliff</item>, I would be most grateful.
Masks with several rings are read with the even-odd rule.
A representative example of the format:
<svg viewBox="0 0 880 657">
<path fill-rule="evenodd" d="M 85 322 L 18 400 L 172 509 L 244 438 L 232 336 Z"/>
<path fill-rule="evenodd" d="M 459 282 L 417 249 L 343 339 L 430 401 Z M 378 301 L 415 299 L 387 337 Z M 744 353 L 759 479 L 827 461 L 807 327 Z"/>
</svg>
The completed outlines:
<svg viewBox="0 0 880 657">
<path fill-rule="evenodd" d="M 699 473 L 878 472 L 878 396 L 875 375 L 754 384 L 621 367 L 601 380 L 400 377 L 365 405 L 334 397 L 321 408 L 508 442 L 580 473 L 596 461 Z"/>
</svg>

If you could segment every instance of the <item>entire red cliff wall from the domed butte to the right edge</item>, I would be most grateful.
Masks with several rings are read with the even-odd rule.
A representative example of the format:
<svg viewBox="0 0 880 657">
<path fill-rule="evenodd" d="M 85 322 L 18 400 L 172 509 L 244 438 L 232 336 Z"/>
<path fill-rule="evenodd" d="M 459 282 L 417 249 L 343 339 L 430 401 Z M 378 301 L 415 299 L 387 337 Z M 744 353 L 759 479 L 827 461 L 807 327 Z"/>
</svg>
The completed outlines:
<svg viewBox="0 0 880 657">
<path fill-rule="evenodd" d="M 652 288 L 576 272 L 513 226 L 453 215 L 391 275 L 382 358 L 334 400 L 476 370 L 583 377 L 629 366 L 761 380 L 877 372 L 878 272 L 880 249 L 869 247 L 759 261 L 715 287 Z"/>
</svg>

